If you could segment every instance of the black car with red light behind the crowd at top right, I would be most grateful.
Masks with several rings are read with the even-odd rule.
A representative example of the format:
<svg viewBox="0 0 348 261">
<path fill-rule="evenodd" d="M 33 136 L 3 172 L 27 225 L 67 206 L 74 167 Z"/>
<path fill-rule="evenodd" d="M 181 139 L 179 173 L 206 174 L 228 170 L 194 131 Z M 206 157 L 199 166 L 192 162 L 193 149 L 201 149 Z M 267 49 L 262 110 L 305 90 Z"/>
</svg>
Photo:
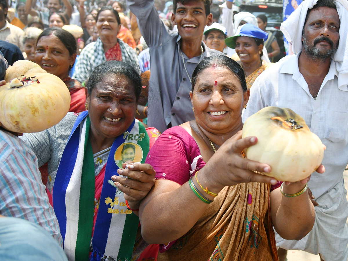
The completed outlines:
<svg viewBox="0 0 348 261">
<path fill-rule="evenodd" d="M 273 58 L 272 62 L 278 62 L 285 56 L 284 35 L 279 30 L 280 24 L 283 22 L 283 1 L 247 1 L 239 6 L 239 11 L 252 13 L 254 16 L 267 16 L 267 31 L 275 33 L 278 45 L 280 47 L 280 54 Z"/>
</svg>

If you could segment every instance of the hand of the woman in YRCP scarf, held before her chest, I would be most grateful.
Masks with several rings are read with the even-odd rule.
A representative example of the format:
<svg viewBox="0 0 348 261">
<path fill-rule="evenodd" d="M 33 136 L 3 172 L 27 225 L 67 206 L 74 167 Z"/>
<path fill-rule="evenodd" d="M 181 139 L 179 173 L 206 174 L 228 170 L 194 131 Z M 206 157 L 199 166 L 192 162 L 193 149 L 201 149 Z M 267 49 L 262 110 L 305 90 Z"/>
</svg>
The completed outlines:
<svg viewBox="0 0 348 261">
<path fill-rule="evenodd" d="M 128 164 L 128 169 L 125 169 L 126 164 Z M 155 184 L 155 170 L 150 164 L 132 164 L 131 161 L 127 161 L 122 164 L 122 168 L 119 168 L 117 173 L 120 176 L 111 177 L 114 184 L 125 193 L 125 199 L 132 203 L 132 206 L 139 206 L 141 200 L 148 195 Z"/>
</svg>

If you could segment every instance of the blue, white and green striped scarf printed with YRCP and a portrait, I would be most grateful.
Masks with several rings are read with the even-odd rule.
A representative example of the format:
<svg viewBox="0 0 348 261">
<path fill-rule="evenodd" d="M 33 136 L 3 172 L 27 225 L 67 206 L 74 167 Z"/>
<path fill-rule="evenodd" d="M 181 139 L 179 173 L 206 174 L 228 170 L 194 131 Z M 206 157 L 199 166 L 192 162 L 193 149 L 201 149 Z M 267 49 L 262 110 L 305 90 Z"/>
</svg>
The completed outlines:
<svg viewBox="0 0 348 261">
<path fill-rule="evenodd" d="M 88 111 L 85 111 L 74 124 L 54 183 L 53 204 L 64 238 L 64 251 L 70 261 L 100 260 L 103 256 L 130 260 L 139 218 L 127 209 L 124 194 L 113 184 L 111 176 L 117 175 L 125 151 L 133 151 L 134 162 L 145 162 L 149 136 L 144 126 L 135 119 L 112 144 L 92 239 L 93 252 L 89 257 L 95 190 L 89 129 L 90 120 Z"/>
</svg>

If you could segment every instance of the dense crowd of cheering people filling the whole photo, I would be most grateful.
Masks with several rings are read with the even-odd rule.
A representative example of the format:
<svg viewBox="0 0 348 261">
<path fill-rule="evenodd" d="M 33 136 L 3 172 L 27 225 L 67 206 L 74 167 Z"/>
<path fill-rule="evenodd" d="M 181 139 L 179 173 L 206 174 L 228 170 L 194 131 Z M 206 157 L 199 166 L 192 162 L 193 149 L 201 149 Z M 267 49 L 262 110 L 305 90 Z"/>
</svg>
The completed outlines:
<svg viewBox="0 0 348 261">
<path fill-rule="evenodd" d="M 233 0 L 0 0 L 0 86 L 28 60 L 71 96 L 41 132 L 0 122 L 0 260 L 348 260 L 348 1 L 292 6 L 278 61 Z M 266 106 L 324 144 L 305 179 L 245 157 Z"/>
</svg>

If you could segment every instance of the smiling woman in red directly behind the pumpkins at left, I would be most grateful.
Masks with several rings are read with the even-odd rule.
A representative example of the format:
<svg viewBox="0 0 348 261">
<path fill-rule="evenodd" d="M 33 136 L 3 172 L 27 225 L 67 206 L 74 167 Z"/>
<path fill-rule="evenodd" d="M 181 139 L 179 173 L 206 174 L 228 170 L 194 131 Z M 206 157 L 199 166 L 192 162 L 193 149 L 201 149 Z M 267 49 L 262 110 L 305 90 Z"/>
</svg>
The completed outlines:
<svg viewBox="0 0 348 261">
<path fill-rule="evenodd" d="M 43 31 L 38 39 L 35 62 L 48 73 L 61 78 L 68 87 L 71 103 L 69 111 L 85 111 L 85 89 L 79 81 L 69 77 L 76 59 L 76 40 L 71 33 L 58 27 Z"/>
</svg>

